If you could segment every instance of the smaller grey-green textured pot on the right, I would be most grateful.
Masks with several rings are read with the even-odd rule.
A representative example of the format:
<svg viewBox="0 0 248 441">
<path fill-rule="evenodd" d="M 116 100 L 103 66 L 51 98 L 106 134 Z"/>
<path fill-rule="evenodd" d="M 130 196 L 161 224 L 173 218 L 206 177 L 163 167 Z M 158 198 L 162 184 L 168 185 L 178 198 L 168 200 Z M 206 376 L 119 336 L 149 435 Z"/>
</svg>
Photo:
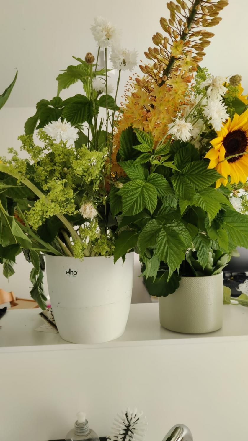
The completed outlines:
<svg viewBox="0 0 248 441">
<path fill-rule="evenodd" d="M 202 334 L 222 327 L 223 273 L 182 277 L 174 294 L 159 297 L 161 325 L 171 331 Z"/>
</svg>

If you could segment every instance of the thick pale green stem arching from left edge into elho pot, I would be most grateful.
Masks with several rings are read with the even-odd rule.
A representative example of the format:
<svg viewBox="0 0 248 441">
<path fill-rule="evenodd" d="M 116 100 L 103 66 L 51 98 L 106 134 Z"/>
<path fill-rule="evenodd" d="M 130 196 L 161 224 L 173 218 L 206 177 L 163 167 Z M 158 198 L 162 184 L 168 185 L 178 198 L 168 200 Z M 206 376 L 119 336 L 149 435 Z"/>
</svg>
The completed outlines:
<svg viewBox="0 0 248 441">
<path fill-rule="evenodd" d="M 25 178 L 25 176 L 20 175 L 19 173 L 11 170 L 10 167 L 6 164 L 0 164 L 0 172 L 7 173 L 7 175 L 13 176 L 15 179 L 21 181 L 26 187 L 30 188 L 34 194 L 38 196 L 38 198 L 43 199 L 47 204 L 51 204 L 48 198 L 32 183 L 29 179 Z M 73 226 L 67 221 L 67 218 L 62 214 L 58 213 L 56 216 L 59 220 L 65 225 L 67 230 L 70 232 L 70 235 L 73 240 L 81 240 L 77 232 L 74 230 Z"/>
</svg>

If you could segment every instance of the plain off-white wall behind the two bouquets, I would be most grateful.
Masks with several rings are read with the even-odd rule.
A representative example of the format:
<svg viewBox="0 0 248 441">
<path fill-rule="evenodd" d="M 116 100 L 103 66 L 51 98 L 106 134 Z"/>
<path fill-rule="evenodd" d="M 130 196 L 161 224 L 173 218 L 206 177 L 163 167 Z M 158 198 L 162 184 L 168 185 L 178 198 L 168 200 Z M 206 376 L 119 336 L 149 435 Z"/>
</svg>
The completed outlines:
<svg viewBox="0 0 248 441">
<path fill-rule="evenodd" d="M 202 65 L 207 65 L 213 74 L 241 74 L 248 92 L 247 13 L 246 0 L 229 0 L 229 6 L 221 13 L 222 22 L 210 29 L 215 37 Z M 152 35 L 163 32 L 160 17 L 168 16 L 165 2 L 152 4 L 150 0 L 2 1 L 0 91 L 11 82 L 15 67 L 19 75 L 7 105 L 0 111 L 1 155 L 7 153 L 8 147 L 18 149 L 17 136 L 23 133 L 26 119 L 34 114 L 37 101 L 56 95 L 55 78 L 60 69 L 74 63 L 71 56 L 83 58 L 88 51 L 96 54 L 96 45 L 89 32 L 96 15 L 107 17 L 122 29 L 123 47 L 136 49 L 139 60 L 144 60 L 144 50 L 153 46 Z M 119 100 L 128 77 L 128 72 L 122 76 Z M 115 82 L 116 79 L 114 72 L 111 80 Z M 78 92 L 81 92 L 79 84 L 71 87 L 70 93 Z M 68 91 L 61 93 L 61 97 L 67 96 Z M 0 275 L 0 286 L 25 297 L 30 285 L 30 265 L 21 256 L 18 263 L 9 283 Z M 136 283 L 140 298 L 144 295 L 141 278 Z"/>
</svg>

